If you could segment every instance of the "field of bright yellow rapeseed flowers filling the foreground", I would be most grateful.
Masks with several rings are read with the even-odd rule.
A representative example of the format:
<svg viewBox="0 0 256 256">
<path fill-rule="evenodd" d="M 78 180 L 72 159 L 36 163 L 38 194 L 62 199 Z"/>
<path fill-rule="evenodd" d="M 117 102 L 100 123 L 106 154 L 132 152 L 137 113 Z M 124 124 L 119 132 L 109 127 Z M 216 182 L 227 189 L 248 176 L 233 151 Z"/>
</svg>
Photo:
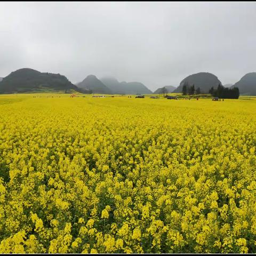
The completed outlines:
<svg viewBox="0 0 256 256">
<path fill-rule="evenodd" d="M 0 253 L 255 253 L 256 100 L 0 96 Z"/>
</svg>

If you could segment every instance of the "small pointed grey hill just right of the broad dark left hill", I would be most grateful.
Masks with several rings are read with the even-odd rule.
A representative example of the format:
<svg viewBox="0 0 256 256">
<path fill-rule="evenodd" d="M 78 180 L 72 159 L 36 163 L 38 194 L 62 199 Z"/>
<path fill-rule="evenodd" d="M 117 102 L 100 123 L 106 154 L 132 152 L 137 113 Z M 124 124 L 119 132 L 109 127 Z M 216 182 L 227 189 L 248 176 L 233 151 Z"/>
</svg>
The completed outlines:
<svg viewBox="0 0 256 256">
<path fill-rule="evenodd" d="M 77 83 L 77 86 L 82 89 L 91 90 L 92 93 L 112 93 L 112 91 L 94 75 L 87 76 L 82 82 Z"/>
</svg>

